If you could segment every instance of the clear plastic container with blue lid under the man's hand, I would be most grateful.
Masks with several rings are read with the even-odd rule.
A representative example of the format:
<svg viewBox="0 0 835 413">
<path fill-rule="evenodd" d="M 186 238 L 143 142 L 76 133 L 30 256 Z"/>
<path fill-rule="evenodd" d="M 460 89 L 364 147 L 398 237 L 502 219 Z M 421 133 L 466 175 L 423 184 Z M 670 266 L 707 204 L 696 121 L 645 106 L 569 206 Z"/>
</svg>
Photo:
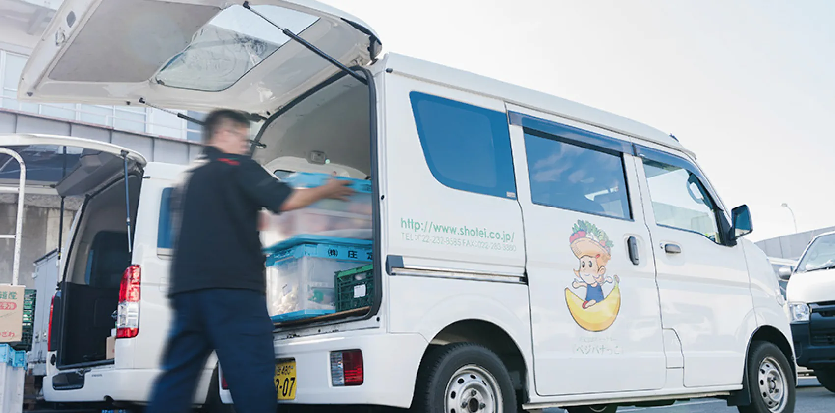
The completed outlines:
<svg viewBox="0 0 835 413">
<path fill-rule="evenodd" d="M 326 174 L 297 172 L 283 181 L 296 188 L 311 188 L 328 179 L 331 176 Z M 271 245 L 300 235 L 371 239 L 371 181 L 338 179 L 350 181 L 356 191 L 349 201 L 326 199 L 296 211 L 269 214 L 261 228 L 261 242 Z"/>
</svg>

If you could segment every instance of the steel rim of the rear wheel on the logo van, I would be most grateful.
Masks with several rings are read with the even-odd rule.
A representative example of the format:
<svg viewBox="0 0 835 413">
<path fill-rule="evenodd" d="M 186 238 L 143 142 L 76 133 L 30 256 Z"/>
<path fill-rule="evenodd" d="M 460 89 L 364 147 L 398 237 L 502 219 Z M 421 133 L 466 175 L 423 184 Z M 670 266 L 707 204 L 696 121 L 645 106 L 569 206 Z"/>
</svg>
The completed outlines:
<svg viewBox="0 0 835 413">
<path fill-rule="evenodd" d="M 498 381 L 478 365 L 456 370 L 447 383 L 443 400 L 445 413 L 503 413 Z"/>
</svg>

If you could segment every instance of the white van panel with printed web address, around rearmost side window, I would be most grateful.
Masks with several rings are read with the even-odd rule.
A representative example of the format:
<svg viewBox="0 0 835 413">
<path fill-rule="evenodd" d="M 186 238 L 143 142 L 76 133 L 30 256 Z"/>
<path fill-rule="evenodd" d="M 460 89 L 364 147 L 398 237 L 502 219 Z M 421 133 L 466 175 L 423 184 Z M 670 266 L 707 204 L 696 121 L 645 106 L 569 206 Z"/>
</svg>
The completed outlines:
<svg viewBox="0 0 835 413">
<path fill-rule="evenodd" d="M 382 135 L 398 137 L 386 141 L 382 155 L 387 163 L 381 182 L 388 199 L 387 255 L 401 256 L 406 268 L 521 275 L 525 257 L 516 194 L 503 194 L 503 199 L 451 190 L 440 183 L 423 158 L 409 96 L 412 92 L 432 94 L 502 113 L 504 103 L 397 73 L 385 78 L 383 98 Z M 438 204 L 441 200 L 443 206 Z"/>
</svg>

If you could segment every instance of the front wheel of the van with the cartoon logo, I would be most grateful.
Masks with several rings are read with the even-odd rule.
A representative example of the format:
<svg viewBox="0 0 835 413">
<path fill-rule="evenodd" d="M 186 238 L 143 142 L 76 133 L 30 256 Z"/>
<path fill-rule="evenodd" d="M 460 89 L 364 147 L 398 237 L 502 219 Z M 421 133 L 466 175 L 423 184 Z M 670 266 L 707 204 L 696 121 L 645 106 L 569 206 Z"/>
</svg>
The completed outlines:
<svg viewBox="0 0 835 413">
<path fill-rule="evenodd" d="M 786 354 L 783 354 L 777 345 L 767 341 L 751 344 L 746 370 L 746 388 L 751 395 L 751 405 L 737 406 L 740 413 L 794 413 L 797 384 Z M 782 375 L 782 378 L 776 375 Z M 763 378 L 767 380 L 762 380 Z M 774 378 L 782 382 L 772 383 L 771 379 Z M 767 391 L 761 390 L 761 383 L 766 386 Z M 772 385 L 775 387 L 773 391 Z M 776 401 L 777 397 L 780 401 Z"/>
</svg>

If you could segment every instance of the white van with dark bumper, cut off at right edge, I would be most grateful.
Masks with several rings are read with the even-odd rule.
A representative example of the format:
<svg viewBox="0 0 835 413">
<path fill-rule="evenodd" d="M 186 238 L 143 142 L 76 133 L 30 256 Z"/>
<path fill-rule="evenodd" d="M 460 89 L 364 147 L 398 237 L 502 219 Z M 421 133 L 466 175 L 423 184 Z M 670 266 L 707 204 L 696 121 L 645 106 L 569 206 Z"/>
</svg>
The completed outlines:
<svg viewBox="0 0 835 413">
<path fill-rule="evenodd" d="M 788 281 L 797 365 L 812 370 L 823 387 L 835 392 L 835 232 L 814 237 L 797 268 L 781 268 L 780 276 Z"/>
</svg>

